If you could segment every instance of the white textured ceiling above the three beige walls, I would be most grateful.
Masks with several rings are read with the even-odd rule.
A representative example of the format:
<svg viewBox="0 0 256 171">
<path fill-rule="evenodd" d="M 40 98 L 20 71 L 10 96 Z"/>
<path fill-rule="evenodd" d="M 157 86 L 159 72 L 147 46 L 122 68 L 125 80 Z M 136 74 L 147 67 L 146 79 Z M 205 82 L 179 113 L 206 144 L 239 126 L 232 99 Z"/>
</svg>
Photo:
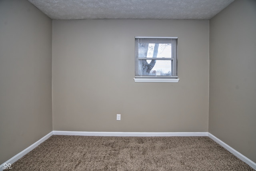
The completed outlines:
<svg viewBox="0 0 256 171">
<path fill-rule="evenodd" d="M 53 20 L 209 20 L 234 0 L 28 0 Z"/>
</svg>

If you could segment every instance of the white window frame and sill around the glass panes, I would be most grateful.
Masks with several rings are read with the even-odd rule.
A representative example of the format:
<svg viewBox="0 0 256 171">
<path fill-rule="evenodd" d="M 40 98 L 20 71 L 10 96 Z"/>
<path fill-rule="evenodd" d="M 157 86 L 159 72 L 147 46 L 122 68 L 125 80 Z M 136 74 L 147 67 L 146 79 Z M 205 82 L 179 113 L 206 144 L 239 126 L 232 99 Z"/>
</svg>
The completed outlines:
<svg viewBox="0 0 256 171">
<path fill-rule="evenodd" d="M 136 36 L 135 37 L 135 73 L 138 73 L 138 60 L 140 60 L 140 58 L 138 57 L 138 45 L 136 45 L 136 42 L 138 43 L 138 39 L 170 39 L 170 42 L 173 41 L 173 39 L 176 39 L 178 41 L 178 37 L 142 37 L 142 36 Z M 154 43 L 154 42 L 152 42 Z M 174 44 L 175 46 L 172 46 L 172 51 L 174 51 L 174 54 L 176 54 L 176 56 L 172 57 L 172 58 L 158 58 L 156 60 L 172 60 L 172 64 L 174 66 L 172 66 L 172 70 L 176 70 L 176 72 L 178 71 L 178 52 L 176 52 L 176 50 L 178 50 L 178 47 L 176 47 L 176 44 L 174 42 L 172 42 L 172 44 Z M 137 49 L 137 50 L 136 50 Z M 143 58 L 143 60 L 145 60 L 145 58 Z M 152 60 L 152 58 L 146 58 L 146 60 Z M 180 79 L 178 78 L 178 73 L 176 74 L 176 76 L 140 76 L 135 74 L 135 78 L 134 81 L 135 82 L 168 82 L 168 83 L 177 83 Z"/>
</svg>

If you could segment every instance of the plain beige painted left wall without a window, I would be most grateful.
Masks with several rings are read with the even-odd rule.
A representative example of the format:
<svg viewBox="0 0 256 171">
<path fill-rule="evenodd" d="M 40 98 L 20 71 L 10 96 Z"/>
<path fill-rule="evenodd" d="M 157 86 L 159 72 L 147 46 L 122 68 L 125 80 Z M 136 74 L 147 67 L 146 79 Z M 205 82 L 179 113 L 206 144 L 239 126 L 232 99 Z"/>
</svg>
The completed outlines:
<svg viewBox="0 0 256 171">
<path fill-rule="evenodd" d="M 52 131 L 52 20 L 0 1 L 0 163 Z"/>
</svg>

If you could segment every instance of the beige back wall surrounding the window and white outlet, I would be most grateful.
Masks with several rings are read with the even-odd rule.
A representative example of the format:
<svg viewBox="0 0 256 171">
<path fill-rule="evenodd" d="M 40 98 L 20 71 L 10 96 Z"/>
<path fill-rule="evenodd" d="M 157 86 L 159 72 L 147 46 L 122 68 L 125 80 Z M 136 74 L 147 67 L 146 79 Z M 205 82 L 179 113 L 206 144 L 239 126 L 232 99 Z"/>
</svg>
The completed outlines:
<svg viewBox="0 0 256 171">
<path fill-rule="evenodd" d="M 178 83 L 134 82 L 135 36 L 178 37 Z M 208 131 L 208 20 L 53 20 L 52 41 L 54 130 Z"/>
</svg>

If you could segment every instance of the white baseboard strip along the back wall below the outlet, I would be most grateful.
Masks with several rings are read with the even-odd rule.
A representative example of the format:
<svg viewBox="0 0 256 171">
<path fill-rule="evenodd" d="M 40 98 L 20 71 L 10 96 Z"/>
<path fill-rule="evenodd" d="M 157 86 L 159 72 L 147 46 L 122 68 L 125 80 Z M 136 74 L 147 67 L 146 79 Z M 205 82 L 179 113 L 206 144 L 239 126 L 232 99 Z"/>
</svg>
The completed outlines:
<svg viewBox="0 0 256 171">
<path fill-rule="evenodd" d="M 53 135 L 114 136 L 114 137 L 170 137 L 170 136 L 208 136 L 208 132 L 87 132 L 53 131 Z"/>
</svg>

